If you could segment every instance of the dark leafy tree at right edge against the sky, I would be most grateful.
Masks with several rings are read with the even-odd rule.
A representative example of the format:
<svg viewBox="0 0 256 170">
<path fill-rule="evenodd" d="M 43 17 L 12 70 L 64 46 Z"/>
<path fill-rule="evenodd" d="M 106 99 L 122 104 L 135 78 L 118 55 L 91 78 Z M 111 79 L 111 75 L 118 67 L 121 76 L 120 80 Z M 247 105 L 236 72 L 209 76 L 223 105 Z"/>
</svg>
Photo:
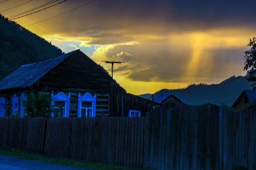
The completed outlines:
<svg viewBox="0 0 256 170">
<path fill-rule="evenodd" d="M 247 71 L 247 79 L 249 82 L 253 82 L 252 86 L 254 90 L 256 89 L 256 38 L 252 38 L 249 41 L 248 47 L 249 50 L 246 50 L 245 58 L 245 67 L 243 70 Z"/>
</svg>

